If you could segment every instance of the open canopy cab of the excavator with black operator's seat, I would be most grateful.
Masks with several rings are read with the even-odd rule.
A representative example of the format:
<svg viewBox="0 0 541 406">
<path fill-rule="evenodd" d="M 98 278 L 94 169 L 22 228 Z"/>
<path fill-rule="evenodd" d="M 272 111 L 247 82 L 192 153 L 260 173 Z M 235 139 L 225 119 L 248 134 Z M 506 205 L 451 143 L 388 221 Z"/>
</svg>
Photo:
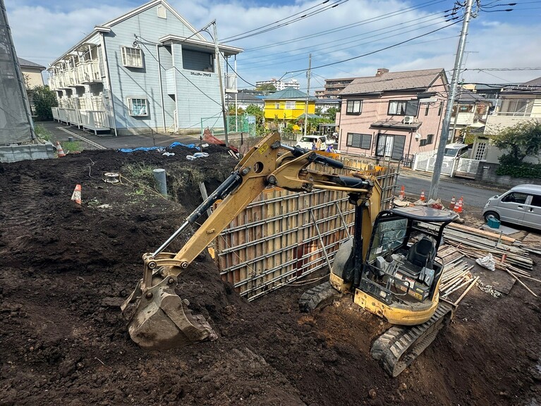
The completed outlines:
<svg viewBox="0 0 541 406">
<path fill-rule="evenodd" d="M 375 221 L 355 303 L 391 324 L 422 324 L 438 305 L 443 230 L 456 214 L 430 207 L 382 211 Z"/>
</svg>

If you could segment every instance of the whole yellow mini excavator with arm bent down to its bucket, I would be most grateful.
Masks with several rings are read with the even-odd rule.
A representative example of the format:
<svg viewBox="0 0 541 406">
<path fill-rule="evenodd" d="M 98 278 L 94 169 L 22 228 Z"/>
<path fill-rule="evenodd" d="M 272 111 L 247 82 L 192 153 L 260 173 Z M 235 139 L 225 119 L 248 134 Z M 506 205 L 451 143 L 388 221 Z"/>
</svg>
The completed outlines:
<svg viewBox="0 0 541 406">
<path fill-rule="evenodd" d="M 281 144 L 277 133 L 268 135 L 250 149 L 231 176 L 161 247 L 142 256 L 142 279 L 121 306 L 123 316 L 128 320 L 128 332 L 135 343 L 147 349 L 166 350 L 217 339 L 205 318 L 192 314 L 188 301 L 176 295 L 174 288 L 178 276 L 266 187 L 295 192 L 311 192 L 317 188 L 348 194 L 349 202 L 355 205 L 355 232 L 354 238 L 337 252 L 329 283 L 305 293 L 300 300 L 301 308 L 313 309 L 330 293 L 354 291 L 355 303 L 370 312 L 394 324 L 417 325 L 417 338 L 408 336 L 411 345 L 403 350 L 401 357 L 393 359 L 387 355 L 388 352 L 396 353 L 394 345 L 407 341 L 404 334 L 392 331 L 393 328 L 372 346 L 372 355 L 379 356 L 393 376 L 399 374 L 395 371 L 402 364 L 411 363 L 422 347 L 419 342 L 429 341 L 439 329 L 423 326 L 439 327 L 452 313 L 450 308 L 438 305 L 442 264 L 434 256 L 444 226 L 456 215 L 438 214 L 427 208 L 379 212 L 382 190 L 375 177 L 360 172 L 352 172 L 351 176 L 325 173 L 308 168 L 310 164 L 344 168 L 342 161 Z M 180 251 L 165 251 L 183 230 L 220 199 L 223 201 Z M 429 228 L 418 227 L 422 221 L 441 223 L 439 233 L 430 235 Z M 418 242 L 410 247 L 408 241 L 411 239 Z M 420 258 L 422 254 L 426 254 L 426 259 Z M 409 266 L 411 272 L 404 271 L 404 266 Z M 396 364 L 400 366 L 396 367 Z"/>
</svg>

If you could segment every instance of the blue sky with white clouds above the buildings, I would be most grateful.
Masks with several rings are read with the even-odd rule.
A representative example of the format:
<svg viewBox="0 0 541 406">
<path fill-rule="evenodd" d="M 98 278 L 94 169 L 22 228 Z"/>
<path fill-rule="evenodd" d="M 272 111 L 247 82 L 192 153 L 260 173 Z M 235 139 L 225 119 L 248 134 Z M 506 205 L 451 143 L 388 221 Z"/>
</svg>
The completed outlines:
<svg viewBox="0 0 541 406">
<path fill-rule="evenodd" d="M 517 5 L 505 5 L 511 2 Z M 4 3 L 18 56 L 47 66 L 95 25 L 145 1 Z M 462 25 L 456 20 L 446 22 L 454 6 L 448 0 L 169 0 L 169 4 L 195 28 L 216 19 L 219 38 L 229 38 L 224 43 L 245 49 L 237 59 L 238 74 L 244 80 L 239 80 L 241 88 L 253 87 L 257 80 L 296 78 L 306 91 L 305 70 L 312 54 L 311 94 L 322 89 L 325 78 L 372 76 L 377 68 L 445 68 L 450 80 Z M 540 77 L 541 70 L 532 68 L 541 67 L 541 0 L 484 0 L 481 4 L 470 22 L 461 78 L 509 83 Z M 499 11 L 506 8 L 513 11 Z M 460 15 L 461 11 L 455 16 Z M 260 27 L 276 25 L 283 26 L 253 35 Z M 245 38 L 234 40 L 245 32 Z M 400 42 L 404 43 L 396 45 Z M 504 70 L 509 68 L 527 69 Z"/>
</svg>

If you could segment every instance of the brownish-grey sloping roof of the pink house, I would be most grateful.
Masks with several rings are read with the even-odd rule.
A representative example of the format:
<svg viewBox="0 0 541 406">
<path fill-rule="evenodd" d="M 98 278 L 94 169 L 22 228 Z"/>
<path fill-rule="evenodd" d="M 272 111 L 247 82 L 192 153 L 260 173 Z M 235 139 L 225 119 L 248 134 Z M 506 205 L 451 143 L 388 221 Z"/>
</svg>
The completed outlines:
<svg viewBox="0 0 541 406">
<path fill-rule="evenodd" d="M 443 75 L 444 83 L 447 84 L 447 78 L 443 68 L 386 72 L 381 76 L 356 78 L 339 94 L 346 96 L 348 94 L 372 94 L 427 89 L 439 75 Z"/>
</svg>

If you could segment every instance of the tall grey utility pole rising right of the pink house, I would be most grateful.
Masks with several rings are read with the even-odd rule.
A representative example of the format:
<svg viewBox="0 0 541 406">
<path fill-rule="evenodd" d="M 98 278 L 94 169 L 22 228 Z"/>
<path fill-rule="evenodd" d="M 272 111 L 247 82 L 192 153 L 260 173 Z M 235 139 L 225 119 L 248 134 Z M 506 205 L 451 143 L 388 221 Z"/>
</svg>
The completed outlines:
<svg viewBox="0 0 541 406">
<path fill-rule="evenodd" d="M 449 90 L 449 97 L 447 98 L 444 123 L 442 125 L 442 133 L 439 136 L 438 152 L 436 155 L 436 162 L 434 163 L 434 173 L 432 173 L 432 183 L 430 184 L 430 192 L 428 193 L 429 199 L 437 199 L 439 177 L 442 175 L 442 164 L 444 161 L 445 144 L 447 143 L 447 137 L 449 137 L 449 124 L 451 121 L 451 113 L 453 111 L 456 87 L 458 85 L 458 76 L 460 75 L 460 70 L 462 66 L 462 56 L 464 54 L 464 48 L 466 47 L 466 36 L 468 35 L 468 25 L 470 24 L 472 6 L 473 0 L 467 0 L 466 12 L 464 13 L 464 20 L 462 22 L 462 32 L 460 35 L 460 39 L 458 40 L 458 49 L 456 50 L 453 78 L 451 79 L 451 89 Z"/>
</svg>

